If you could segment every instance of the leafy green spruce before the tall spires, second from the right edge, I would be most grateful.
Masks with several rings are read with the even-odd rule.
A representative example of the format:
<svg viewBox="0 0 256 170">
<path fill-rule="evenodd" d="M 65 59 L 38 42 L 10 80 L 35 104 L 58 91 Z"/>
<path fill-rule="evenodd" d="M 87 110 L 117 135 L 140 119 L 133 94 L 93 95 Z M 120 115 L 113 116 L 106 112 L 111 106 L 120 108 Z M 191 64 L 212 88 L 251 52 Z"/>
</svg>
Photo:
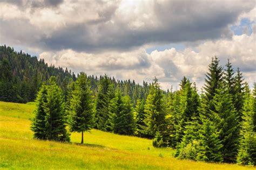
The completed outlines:
<svg viewBox="0 0 256 170">
<path fill-rule="evenodd" d="M 239 124 L 238 114 L 227 87 L 217 89 L 213 103 L 215 111 L 211 111 L 211 118 L 215 128 L 219 131 L 219 139 L 223 144 L 221 148 L 223 159 L 225 162 L 234 162 L 237 156 Z"/>
</svg>

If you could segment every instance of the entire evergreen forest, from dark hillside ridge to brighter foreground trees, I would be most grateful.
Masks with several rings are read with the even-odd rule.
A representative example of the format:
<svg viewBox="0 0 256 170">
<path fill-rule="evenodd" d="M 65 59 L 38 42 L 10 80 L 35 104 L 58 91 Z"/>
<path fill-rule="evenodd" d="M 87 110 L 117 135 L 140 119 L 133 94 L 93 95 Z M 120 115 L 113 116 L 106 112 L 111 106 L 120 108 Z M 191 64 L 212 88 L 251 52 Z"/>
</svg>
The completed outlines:
<svg viewBox="0 0 256 170">
<path fill-rule="evenodd" d="M 0 47 L 0 101 L 36 101 L 36 139 L 70 141 L 71 132 L 98 129 L 152 139 L 178 159 L 256 165 L 256 83 L 239 68 L 212 58 L 201 91 L 186 75 L 164 91 L 158 79 L 138 84 L 48 66 L 11 47 Z"/>
</svg>

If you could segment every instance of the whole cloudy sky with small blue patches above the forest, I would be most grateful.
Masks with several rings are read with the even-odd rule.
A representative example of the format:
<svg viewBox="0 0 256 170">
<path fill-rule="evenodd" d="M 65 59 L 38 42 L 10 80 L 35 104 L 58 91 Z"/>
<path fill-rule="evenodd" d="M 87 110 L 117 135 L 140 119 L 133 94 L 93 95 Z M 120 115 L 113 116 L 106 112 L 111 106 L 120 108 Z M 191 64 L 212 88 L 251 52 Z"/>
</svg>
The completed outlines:
<svg viewBox="0 0 256 170">
<path fill-rule="evenodd" d="M 0 0 L 0 44 L 75 73 L 201 88 L 213 56 L 256 81 L 256 1 Z"/>
</svg>

